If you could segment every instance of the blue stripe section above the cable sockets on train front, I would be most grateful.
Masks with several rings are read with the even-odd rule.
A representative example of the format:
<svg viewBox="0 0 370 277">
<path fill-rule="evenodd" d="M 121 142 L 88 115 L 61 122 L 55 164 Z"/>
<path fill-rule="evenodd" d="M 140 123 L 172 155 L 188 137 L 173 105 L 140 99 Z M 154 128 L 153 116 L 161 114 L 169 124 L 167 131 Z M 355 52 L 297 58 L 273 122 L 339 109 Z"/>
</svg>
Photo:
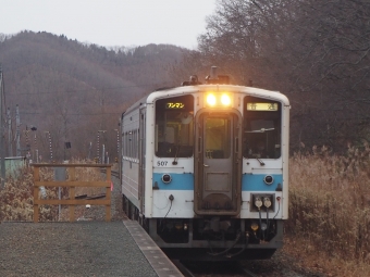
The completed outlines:
<svg viewBox="0 0 370 277">
<path fill-rule="evenodd" d="M 267 185 L 263 181 L 266 175 L 270 175 L 273 178 L 271 185 Z M 272 191 L 278 188 L 278 184 L 281 184 L 283 188 L 283 176 L 281 174 L 244 174 L 242 177 L 242 191 Z"/>
</svg>

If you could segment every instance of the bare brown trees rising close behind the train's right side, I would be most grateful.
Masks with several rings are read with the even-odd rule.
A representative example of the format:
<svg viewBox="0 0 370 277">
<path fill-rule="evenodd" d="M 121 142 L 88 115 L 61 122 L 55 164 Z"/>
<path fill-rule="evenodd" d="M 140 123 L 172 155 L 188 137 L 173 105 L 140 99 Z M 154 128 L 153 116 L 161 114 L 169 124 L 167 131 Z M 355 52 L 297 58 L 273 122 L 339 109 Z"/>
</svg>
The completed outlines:
<svg viewBox="0 0 370 277">
<path fill-rule="evenodd" d="M 215 64 L 236 84 L 287 95 L 293 150 L 369 141 L 369 1 L 219 0 L 198 43 L 175 75 Z"/>
</svg>

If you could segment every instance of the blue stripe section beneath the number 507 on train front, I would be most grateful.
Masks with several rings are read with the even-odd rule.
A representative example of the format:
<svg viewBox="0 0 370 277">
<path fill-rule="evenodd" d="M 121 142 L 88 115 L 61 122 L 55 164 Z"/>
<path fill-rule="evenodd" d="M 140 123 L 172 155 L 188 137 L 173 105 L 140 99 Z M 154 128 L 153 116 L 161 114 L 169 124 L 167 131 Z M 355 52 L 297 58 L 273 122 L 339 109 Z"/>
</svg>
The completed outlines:
<svg viewBox="0 0 370 277">
<path fill-rule="evenodd" d="M 193 173 L 184 173 L 184 174 L 174 174 L 171 173 L 171 182 L 165 184 L 162 181 L 163 173 L 153 173 L 152 176 L 152 186 L 155 187 L 155 182 L 159 189 L 168 189 L 168 190 L 194 190 L 194 174 Z"/>
</svg>

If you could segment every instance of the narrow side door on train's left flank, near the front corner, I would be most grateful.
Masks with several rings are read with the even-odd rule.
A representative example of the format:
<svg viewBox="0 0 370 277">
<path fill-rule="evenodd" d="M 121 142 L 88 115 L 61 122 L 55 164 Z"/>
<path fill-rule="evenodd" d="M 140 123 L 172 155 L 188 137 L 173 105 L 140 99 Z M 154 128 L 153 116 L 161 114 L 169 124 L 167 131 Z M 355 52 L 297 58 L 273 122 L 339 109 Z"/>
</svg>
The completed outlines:
<svg viewBox="0 0 370 277">
<path fill-rule="evenodd" d="M 138 171 L 138 199 L 140 213 L 145 213 L 145 158 L 146 158 L 146 110 L 141 109 L 139 114 L 139 171 Z"/>
</svg>

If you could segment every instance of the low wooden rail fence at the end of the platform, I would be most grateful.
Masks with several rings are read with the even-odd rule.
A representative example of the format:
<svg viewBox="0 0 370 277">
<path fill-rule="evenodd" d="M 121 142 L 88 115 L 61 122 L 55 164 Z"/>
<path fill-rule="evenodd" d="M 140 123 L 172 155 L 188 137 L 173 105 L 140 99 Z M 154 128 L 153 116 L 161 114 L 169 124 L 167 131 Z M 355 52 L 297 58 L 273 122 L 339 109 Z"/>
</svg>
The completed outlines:
<svg viewBox="0 0 370 277">
<path fill-rule="evenodd" d="M 38 222 L 39 205 L 69 205 L 70 222 L 75 221 L 75 205 L 106 205 L 106 222 L 111 221 L 111 164 L 32 164 L 34 166 L 34 223 Z M 67 180 L 40 180 L 41 167 L 66 167 L 69 168 Z M 98 167 L 106 169 L 104 181 L 76 180 L 76 167 Z M 69 199 L 39 199 L 39 187 L 67 187 Z M 75 199 L 76 187 L 106 188 L 104 199 Z"/>
</svg>

